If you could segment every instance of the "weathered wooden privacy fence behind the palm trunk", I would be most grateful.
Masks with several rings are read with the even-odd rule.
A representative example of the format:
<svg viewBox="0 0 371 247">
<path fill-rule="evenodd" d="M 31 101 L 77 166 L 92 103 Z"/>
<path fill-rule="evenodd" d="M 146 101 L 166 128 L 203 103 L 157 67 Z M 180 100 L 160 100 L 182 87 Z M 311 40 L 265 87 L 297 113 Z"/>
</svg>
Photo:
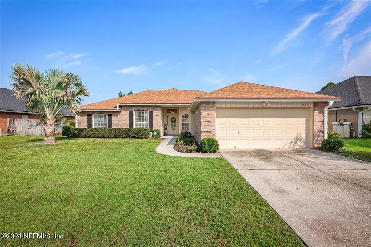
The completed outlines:
<svg viewBox="0 0 371 247">
<path fill-rule="evenodd" d="M 63 121 L 57 122 L 56 135 L 62 134 Z M 37 119 L 7 119 L 7 134 L 9 136 L 44 136 L 42 120 Z"/>
</svg>

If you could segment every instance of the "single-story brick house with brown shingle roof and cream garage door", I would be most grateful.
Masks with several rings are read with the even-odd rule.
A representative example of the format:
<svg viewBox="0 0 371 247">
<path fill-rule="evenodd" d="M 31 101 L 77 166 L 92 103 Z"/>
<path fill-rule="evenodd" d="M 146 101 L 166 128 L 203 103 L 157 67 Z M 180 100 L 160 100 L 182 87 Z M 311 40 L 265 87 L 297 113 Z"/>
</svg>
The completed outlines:
<svg viewBox="0 0 371 247">
<path fill-rule="evenodd" d="M 326 137 L 329 102 L 339 100 L 243 81 L 211 93 L 148 90 L 82 106 L 76 127 L 188 130 L 198 143 L 213 137 L 220 147 L 311 148 Z"/>
</svg>

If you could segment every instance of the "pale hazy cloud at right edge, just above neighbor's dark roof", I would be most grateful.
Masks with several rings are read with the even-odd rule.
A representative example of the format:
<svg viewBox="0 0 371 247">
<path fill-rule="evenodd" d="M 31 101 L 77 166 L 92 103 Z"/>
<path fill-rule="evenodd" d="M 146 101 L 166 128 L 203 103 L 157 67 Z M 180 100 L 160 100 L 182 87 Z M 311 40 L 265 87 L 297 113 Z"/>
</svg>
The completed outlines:
<svg viewBox="0 0 371 247">
<path fill-rule="evenodd" d="M 371 40 L 358 50 L 357 56 L 344 64 L 340 70 L 341 77 L 371 74 Z"/>
</svg>

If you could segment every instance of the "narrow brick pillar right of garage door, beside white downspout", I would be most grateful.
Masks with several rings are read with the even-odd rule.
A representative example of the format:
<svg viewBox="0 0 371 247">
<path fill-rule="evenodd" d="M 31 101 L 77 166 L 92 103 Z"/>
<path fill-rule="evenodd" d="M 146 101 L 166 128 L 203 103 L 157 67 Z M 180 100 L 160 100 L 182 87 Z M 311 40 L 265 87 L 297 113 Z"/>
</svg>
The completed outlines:
<svg viewBox="0 0 371 247">
<path fill-rule="evenodd" d="M 327 102 L 313 102 L 313 148 L 321 147 L 324 139 L 324 118 Z"/>
</svg>

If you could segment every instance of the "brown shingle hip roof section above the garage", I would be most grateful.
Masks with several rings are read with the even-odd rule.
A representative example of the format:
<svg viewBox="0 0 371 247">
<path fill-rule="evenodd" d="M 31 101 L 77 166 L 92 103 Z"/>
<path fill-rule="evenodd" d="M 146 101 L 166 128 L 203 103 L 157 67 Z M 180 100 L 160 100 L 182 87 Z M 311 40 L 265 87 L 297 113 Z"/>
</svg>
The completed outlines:
<svg viewBox="0 0 371 247">
<path fill-rule="evenodd" d="M 202 98 L 250 98 L 250 99 L 287 99 L 287 98 L 311 98 L 311 99 L 340 99 L 335 96 L 328 96 L 323 94 L 308 93 L 292 89 L 284 89 L 282 87 L 273 87 L 240 81 L 223 87 L 221 89 L 196 97 Z"/>
</svg>

